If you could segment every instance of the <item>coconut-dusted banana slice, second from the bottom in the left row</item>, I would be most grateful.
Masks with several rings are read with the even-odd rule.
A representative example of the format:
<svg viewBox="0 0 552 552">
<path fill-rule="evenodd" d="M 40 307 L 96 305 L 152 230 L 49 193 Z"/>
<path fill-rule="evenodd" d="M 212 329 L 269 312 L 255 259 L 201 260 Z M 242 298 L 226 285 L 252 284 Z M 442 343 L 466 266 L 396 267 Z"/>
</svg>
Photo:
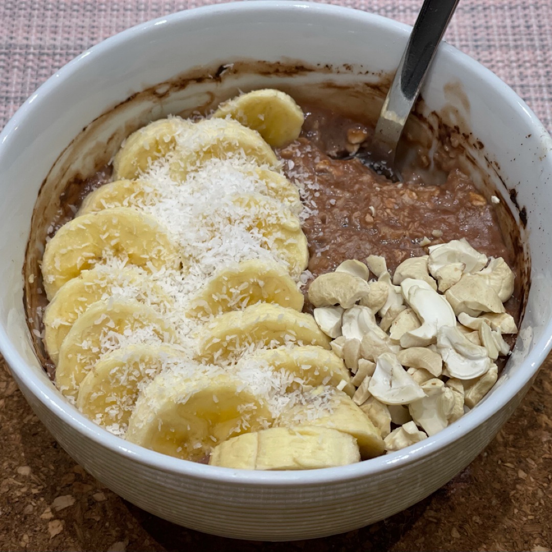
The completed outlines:
<svg viewBox="0 0 552 552">
<path fill-rule="evenodd" d="M 140 389 L 163 370 L 182 364 L 184 351 L 174 345 L 128 345 L 105 354 L 81 381 L 77 407 L 100 426 L 125 431 Z"/>
</svg>

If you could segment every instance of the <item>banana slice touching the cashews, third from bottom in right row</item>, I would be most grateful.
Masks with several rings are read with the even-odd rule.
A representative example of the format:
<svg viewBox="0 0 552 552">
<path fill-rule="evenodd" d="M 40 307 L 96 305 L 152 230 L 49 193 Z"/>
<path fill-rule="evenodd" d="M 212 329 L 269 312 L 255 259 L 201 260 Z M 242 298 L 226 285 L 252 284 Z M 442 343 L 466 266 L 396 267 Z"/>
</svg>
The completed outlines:
<svg viewBox="0 0 552 552">
<path fill-rule="evenodd" d="M 314 345 L 301 347 L 282 347 L 279 349 L 258 349 L 238 361 L 240 365 L 248 363 L 266 363 L 276 371 L 285 370 L 303 381 L 303 385 L 344 385 L 343 391 L 353 396 L 354 385 L 351 383 L 349 370 L 343 360 L 332 351 L 326 351 Z M 344 382 L 342 384 L 341 382 Z M 288 386 L 287 391 L 299 389 L 297 381 Z M 353 403 L 354 404 L 354 403 Z M 356 406 L 356 405 L 355 405 Z M 302 422 L 301 422 L 302 423 Z"/>
</svg>

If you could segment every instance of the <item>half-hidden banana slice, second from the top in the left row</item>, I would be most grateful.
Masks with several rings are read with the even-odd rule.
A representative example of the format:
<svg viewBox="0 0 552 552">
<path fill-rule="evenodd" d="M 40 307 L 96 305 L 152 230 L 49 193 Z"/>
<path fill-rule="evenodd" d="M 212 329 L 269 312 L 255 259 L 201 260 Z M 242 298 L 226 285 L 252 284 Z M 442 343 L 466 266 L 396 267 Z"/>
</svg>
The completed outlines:
<svg viewBox="0 0 552 552">
<path fill-rule="evenodd" d="M 155 189 L 141 180 L 116 180 L 89 193 L 77 216 L 113 207 L 140 207 L 155 203 Z"/>
</svg>

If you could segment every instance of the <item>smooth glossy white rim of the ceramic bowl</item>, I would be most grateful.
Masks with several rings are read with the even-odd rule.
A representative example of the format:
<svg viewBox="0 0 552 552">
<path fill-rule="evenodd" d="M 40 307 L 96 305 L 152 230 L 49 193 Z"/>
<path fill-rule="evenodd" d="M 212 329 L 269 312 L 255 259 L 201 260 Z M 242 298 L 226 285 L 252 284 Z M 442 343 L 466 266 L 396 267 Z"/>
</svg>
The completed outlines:
<svg viewBox="0 0 552 552">
<path fill-rule="evenodd" d="M 132 26 L 129 29 L 121 31 L 121 33 L 103 40 L 56 71 L 54 75 L 30 95 L 2 130 L 0 134 L 0 159 L 6 147 L 4 142 L 9 139 L 10 133 L 17 129 L 20 121 L 25 120 L 31 108 L 34 108 L 34 105 L 32 105 L 34 100 L 55 91 L 58 83 L 63 78 L 71 77 L 73 73 L 80 71 L 81 67 L 85 65 L 83 60 L 87 59 L 89 55 L 97 52 L 101 53 L 105 50 L 109 51 L 112 47 L 116 47 L 118 44 L 132 39 L 134 35 L 153 31 L 153 29 L 167 23 L 178 25 L 181 20 L 212 17 L 213 15 L 224 17 L 225 14 L 230 12 L 254 12 L 259 9 L 264 11 L 278 9 L 280 14 L 283 10 L 288 10 L 290 14 L 298 10 L 302 10 L 303 12 L 310 10 L 313 17 L 316 17 L 317 14 L 322 14 L 345 19 L 354 18 L 357 22 L 358 20 L 362 20 L 367 26 L 383 26 L 390 33 L 400 35 L 400 38 L 404 38 L 405 41 L 411 29 L 410 25 L 362 10 L 314 2 L 295 2 L 294 0 L 252 0 L 249 2 L 211 4 L 209 6 L 164 15 L 160 18 Z M 516 103 L 519 110 L 523 112 L 527 123 L 533 126 L 535 133 L 538 132 L 537 136 L 539 136 L 539 140 L 544 140 L 547 136 L 549 137 L 548 131 L 546 131 L 527 104 L 494 73 L 447 43 L 440 46 L 440 51 L 442 52 L 441 55 L 453 57 L 454 62 L 462 66 L 464 70 L 477 73 L 497 94 L 502 95 L 505 99 L 509 98 L 510 103 Z M 550 172 L 552 173 L 552 161 L 547 161 L 547 163 L 550 165 Z M 416 445 L 411 445 L 405 449 L 388 453 L 369 461 L 339 466 L 337 468 L 302 471 L 254 471 L 219 468 L 217 466 L 197 464 L 188 460 L 169 457 L 142 448 L 134 443 L 126 442 L 124 439 L 109 433 L 106 429 L 86 418 L 59 394 L 59 391 L 57 391 L 53 384 L 47 383 L 46 380 L 35 378 L 32 374 L 33 369 L 25 362 L 22 355 L 17 352 L 3 324 L 0 325 L 0 351 L 9 367 L 17 376 L 17 379 L 22 381 L 29 392 L 45 405 L 48 410 L 73 430 L 78 431 L 96 444 L 109 449 L 112 453 L 121 454 L 126 459 L 148 468 L 176 475 L 185 475 L 198 480 L 246 487 L 264 486 L 267 484 L 273 487 L 304 487 L 327 483 L 328 481 L 337 483 L 361 479 L 370 475 L 383 474 L 391 470 L 405 468 L 409 464 L 421 461 L 424 457 L 436 454 L 458 438 L 473 432 L 477 426 L 489 420 L 496 412 L 505 407 L 537 374 L 540 365 L 552 348 L 552 338 L 550 336 L 552 336 L 552 320 L 545 325 L 543 337 L 534 344 L 532 351 L 529 352 L 524 360 L 524 364 L 530 369 L 519 370 L 513 376 L 508 377 L 506 381 L 503 381 L 500 389 L 497 389 L 493 394 L 492 401 L 482 401 L 474 411 L 470 411 L 467 415 L 461 417 L 457 422 L 454 422 L 436 435 L 424 439 Z"/>
</svg>

